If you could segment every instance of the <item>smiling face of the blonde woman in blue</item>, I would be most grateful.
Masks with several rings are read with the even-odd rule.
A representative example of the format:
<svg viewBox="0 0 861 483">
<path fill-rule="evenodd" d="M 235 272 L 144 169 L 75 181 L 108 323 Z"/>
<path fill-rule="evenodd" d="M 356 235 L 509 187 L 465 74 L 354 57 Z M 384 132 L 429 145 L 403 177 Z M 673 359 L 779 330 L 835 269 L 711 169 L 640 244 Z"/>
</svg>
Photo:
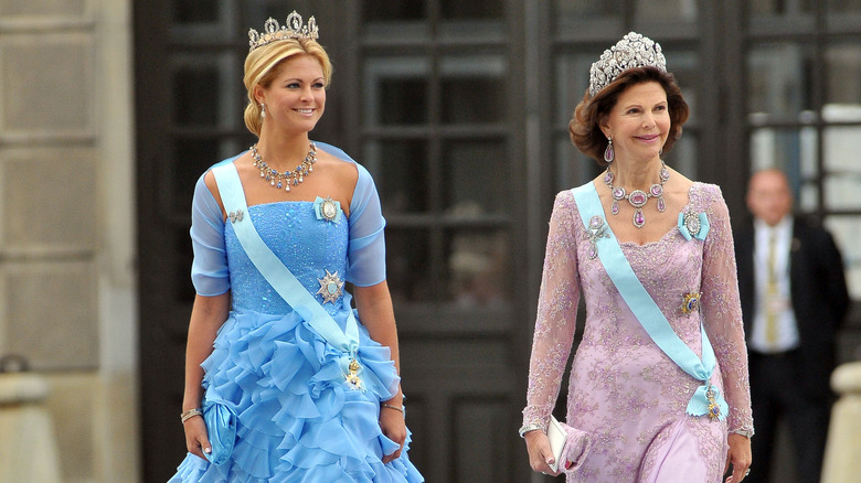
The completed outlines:
<svg viewBox="0 0 861 483">
<path fill-rule="evenodd" d="M 264 129 L 308 132 L 326 108 L 326 80 L 320 61 L 295 55 L 284 61 L 267 87 L 256 86 L 254 97 L 266 105 Z"/>
</svg>

